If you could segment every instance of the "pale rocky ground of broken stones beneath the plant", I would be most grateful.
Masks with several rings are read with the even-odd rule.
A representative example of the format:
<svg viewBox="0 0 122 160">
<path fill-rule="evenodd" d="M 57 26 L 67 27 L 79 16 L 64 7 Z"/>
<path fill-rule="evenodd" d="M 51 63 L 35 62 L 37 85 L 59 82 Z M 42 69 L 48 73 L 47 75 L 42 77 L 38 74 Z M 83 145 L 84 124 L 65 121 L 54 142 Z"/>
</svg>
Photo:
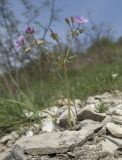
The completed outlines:
<svg viewBox="0 0 122 160">
<path fill-rule="evenodd" d="M 9 134 L 1 129 L 0 160 L 122 160 L 122 92 L 71 101 L 72 130 L 67 103 L 38 112 L 41 124 Z M 33 112 L 25 115 L 33 118 Z"/>
</svg>

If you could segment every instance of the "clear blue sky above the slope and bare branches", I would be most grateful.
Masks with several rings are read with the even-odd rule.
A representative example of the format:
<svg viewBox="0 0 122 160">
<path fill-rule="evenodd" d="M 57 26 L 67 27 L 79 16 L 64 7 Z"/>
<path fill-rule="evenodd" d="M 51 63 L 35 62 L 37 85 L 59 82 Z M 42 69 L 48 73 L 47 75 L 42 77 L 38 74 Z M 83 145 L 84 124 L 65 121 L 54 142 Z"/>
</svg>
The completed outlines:
<svg viewBox="0 0 122 160">
<path fill-rule="evenodd" d="M 15 10 L 17 11 L 17 18 L 20 18 L 20 13 L 23 7 L 20 5 L 20 0 L 16 1 Z M 33 3 L 39 5 L 41 0 L 31 0 Z M 67 27 L 64 25 L 64 18 L 74 15 L 81 15 L 88 18 L 90 13 L 92 19 L 96 24 L 104 22 L 109 24 L 113 31 L 114 36 L 119 37 L 122 35 L 122 0 L 55 0 L 56 7 L 62 9 L 60 13 L 60 21 L 53 24 L 56 32 L 64 36 Z M 42 23 L 46 23 L 48 12 L 43 15 Z M 40 17 L 41 21 L 41 17 Z"/>
</svg>

